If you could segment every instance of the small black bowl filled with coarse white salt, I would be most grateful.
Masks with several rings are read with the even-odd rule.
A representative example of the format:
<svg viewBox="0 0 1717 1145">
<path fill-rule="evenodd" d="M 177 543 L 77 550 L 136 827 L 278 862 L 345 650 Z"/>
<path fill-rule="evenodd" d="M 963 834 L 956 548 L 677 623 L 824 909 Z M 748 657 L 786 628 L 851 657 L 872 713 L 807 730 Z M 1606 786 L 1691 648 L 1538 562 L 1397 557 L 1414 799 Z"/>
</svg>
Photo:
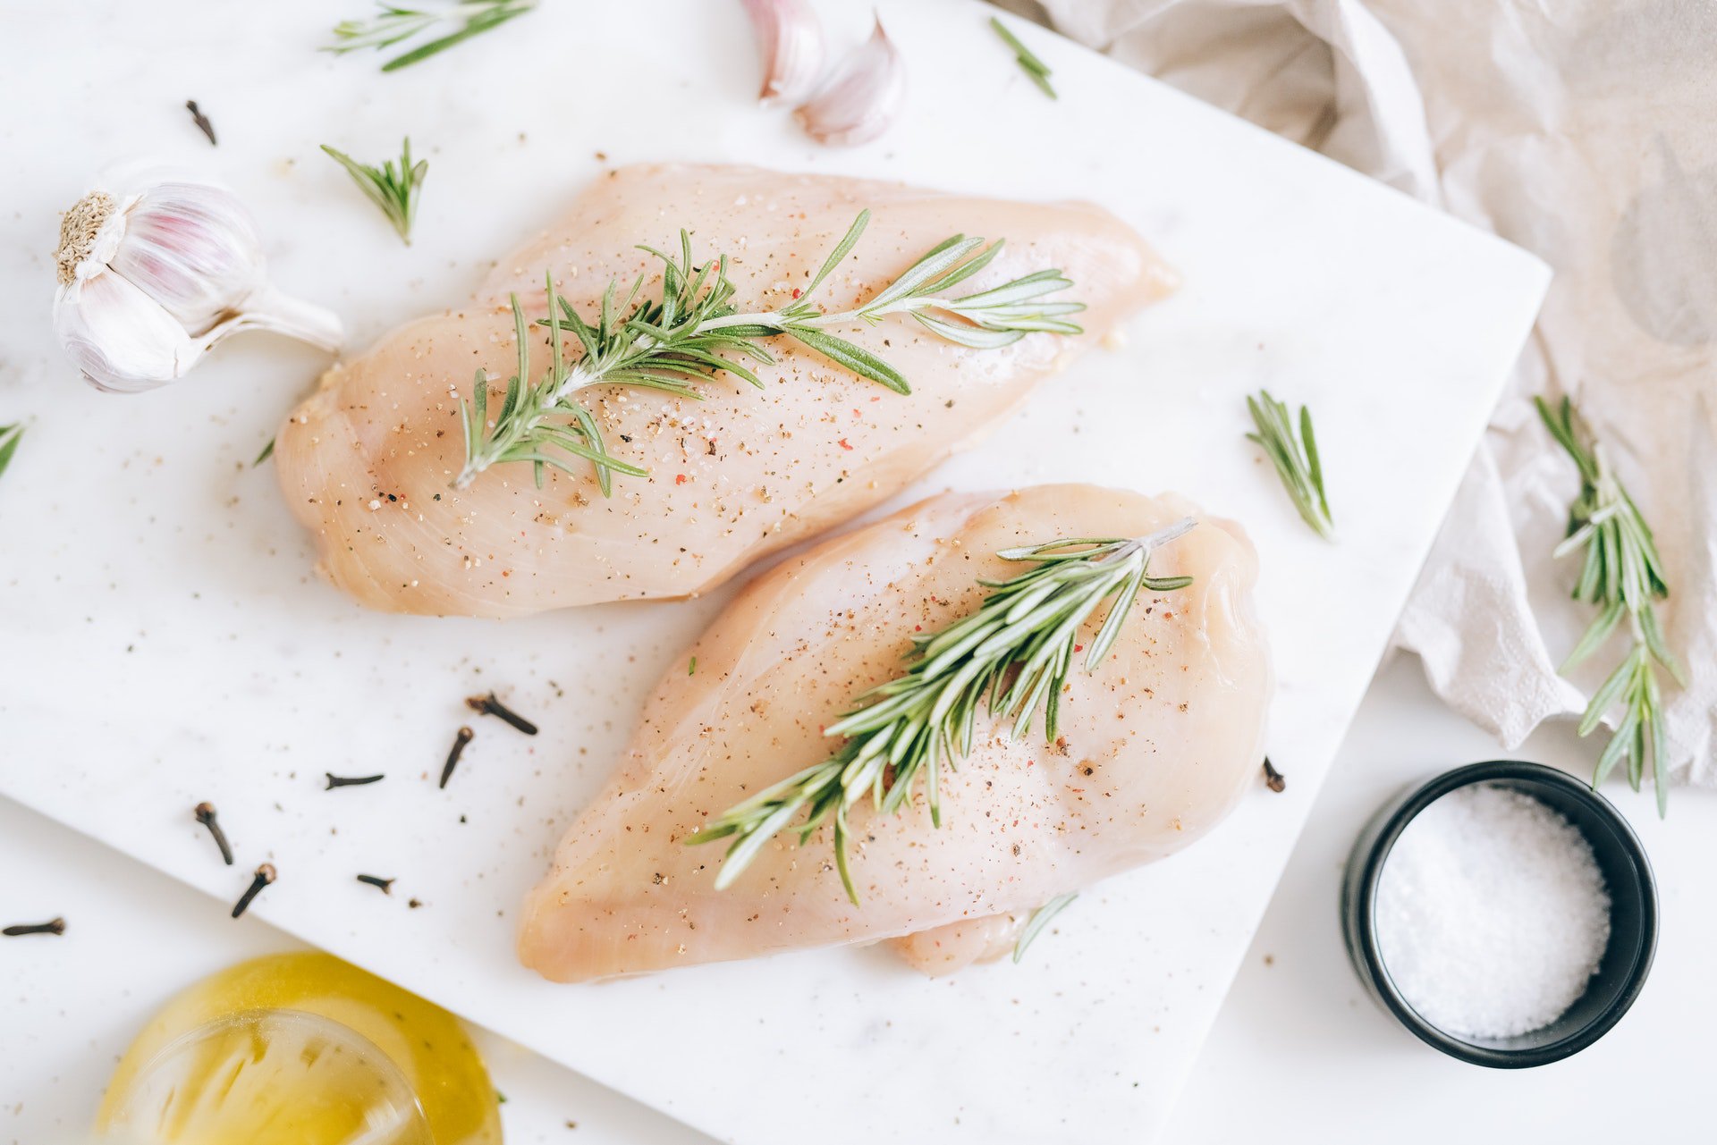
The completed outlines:
<svg viewBox="0 0 1717 1145">
<path fill-rule="evenodd" d="M 1657 884 L 1607 798 L 1518 760 L 1456 767 L 1386 803 L 1341 888 L 1360 980 L 1451 1057 L 1518 1069 L 1576 1054 L 1640 996 Z"/>
</svg>

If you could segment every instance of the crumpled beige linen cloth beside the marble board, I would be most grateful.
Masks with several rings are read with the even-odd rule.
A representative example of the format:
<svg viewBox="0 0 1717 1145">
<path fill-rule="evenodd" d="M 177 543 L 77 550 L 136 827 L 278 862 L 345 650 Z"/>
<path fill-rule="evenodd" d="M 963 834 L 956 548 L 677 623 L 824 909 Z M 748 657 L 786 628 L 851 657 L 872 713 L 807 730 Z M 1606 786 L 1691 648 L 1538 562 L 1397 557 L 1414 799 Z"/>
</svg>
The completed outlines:
<svg viewBox="0 0 1717 1145">
<path fill-rule="evenodd" d="M 1550 560 L 1578 486 L 1528 398 L 1573 395 L 1667 565 L 1662 615 L 1690 687 L 1662 678 L 1665 757 L 1717 786 L 1717 0 L 1004 7 L 1556 270 L 1396 644 L 1506 747 L 1581 711 L 1624 654 L 1616 635 L 1573 682 L 1556 673 L 1592 609 L 1568 599 L 1578 558 Z"/>
</svg>

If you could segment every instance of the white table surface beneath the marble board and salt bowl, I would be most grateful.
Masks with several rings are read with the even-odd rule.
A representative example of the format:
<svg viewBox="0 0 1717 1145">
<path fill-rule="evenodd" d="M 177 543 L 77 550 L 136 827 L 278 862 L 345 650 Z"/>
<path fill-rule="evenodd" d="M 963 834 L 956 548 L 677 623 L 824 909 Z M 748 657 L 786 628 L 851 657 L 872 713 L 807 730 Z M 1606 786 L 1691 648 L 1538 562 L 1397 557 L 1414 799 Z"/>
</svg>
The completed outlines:
<svg viewBox="0 0 1717 1145">
<path fill-rule="evenodd" d="M 1566 728 L 1516 755 L 1583 769 L 1593 745 Z M 1645 839 L 1662 896 L 1652 978 L 1602 1042 L 1554 1066 L 1490 1071 L 1442 1057 L 1360 989 L 1341 946 L 1336 888 L 1360 824 L 1401 785 L 1497 754 L 1442 709 L 1401 657 L 1372 685 L 1360 719 L 1224 1004 L 1166 1142 L 1561 1140 L 1657 1135 L 1707 1124 L 1705 1027 L 1717 1011 L 1717 896 L 1710 853 L 1717 798 L 1676 791 L 1667 822 L 1648 797 L 1611 795 Z M 1293 783 L 1293 776 L 1288 776 Z M 77 1138 L 130 1033 L 182 985 L 295 942 L 227 905 L 0 800 L 0 920 L 64 915 L 62 939 L 0 939 L 0 1145 Z M 1053 958 L 1051 944 L 1042 954 Z M 500 1039 L 481 1039 L 507 1094 L 507 1140 L 709 1138 Z M 1068 1094 L 1066 1100 L 1078 1100 Z M 575 1128 L 568 1128 L 572 1123 Z"/>
</svg>

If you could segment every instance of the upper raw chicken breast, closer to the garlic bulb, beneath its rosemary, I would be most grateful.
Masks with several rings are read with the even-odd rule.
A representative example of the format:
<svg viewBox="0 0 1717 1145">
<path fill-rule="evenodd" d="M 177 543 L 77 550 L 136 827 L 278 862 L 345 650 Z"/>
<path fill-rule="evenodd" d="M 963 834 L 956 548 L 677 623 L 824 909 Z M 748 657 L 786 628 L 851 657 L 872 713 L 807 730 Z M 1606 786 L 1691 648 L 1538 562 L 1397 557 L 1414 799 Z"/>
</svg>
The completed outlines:
<svg viewBox="0 0 1717 1145">
<path fill-rule="evenodd" d="M 737 304 L 790 302 L 862 208 L 858 247 L 819 290 L 829 309 L 871 297 L 943 239 L 1006 239 L 962 290 L 1059 268 L 1065 295 L 1090 309 L 1082 336 L 1034 333 L 970 350 L 896 314 L 840 330 L 913 385 L 901 397 L 786 338 L 769 340 L 764 390 L 719 376 L 704 402 L 651 390 L 592 386 L 584 402 L 608 450 L 651 477 L 496 465 L 462 491 L 458 397 L 477 367 L 500 409 L 515 371 L 508 294 L 546 312 L 543 276 L 594 316 L 603 288 L 658 264 L 634 244 L 694 256 L 726 252 Z M 656 282 L 652 278 L 651 282 Z M 316 534 L 319 568 L 371 608 L 515 616 L 568 604 L 689 596 L 749 561 L 809 537 L 898 493 L 1004 419 L 1046 376 L 1118 328 L 1171 278 L 1107 211 L 913 191 L 896 184 L 781 175 L 735 167 L 628 167 L 580 194 L 572 211 L 508 254 L 464 309 L 424 318 L 337 366 L 280 429 L 275 465 L 292 512 Z M 532 336 L 541 336 L 532 328 Z M 568 338 L 570 340 L 570 338 Z M 532 364 L 546 369 L 546 340 Z"/>
</svg>

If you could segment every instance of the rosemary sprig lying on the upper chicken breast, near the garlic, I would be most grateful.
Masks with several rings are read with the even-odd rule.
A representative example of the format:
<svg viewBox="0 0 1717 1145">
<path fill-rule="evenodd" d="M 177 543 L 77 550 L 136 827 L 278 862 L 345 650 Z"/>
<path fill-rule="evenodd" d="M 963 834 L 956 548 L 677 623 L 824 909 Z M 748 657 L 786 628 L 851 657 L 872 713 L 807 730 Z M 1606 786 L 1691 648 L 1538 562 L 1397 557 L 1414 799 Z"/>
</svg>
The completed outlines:
<svg viewBox="0 0 1717 1145">
<path fill-rule="evenodd" d="M 955 235 L 932 247 L 867 302 L 848 311 L 822 311 L 812 300 L 817 287 L 852 254 L 869 221 L 871 211 L 860 211 L 804 290 L 792 304 L 776 311 L 738 312 L 733 306 L 735 287 L 726 273 L 726 256 L 697 266 L 692 259 L 690 235 L 683 230 L 676 257 L 654 247 L 639 247 L 661 261 L 659 290 L 644 295 L 646 278 L 639 275 L 622 297 L 618 280 L 610 282 L 594 321 L 587 321 L 570 302 L 556 297 L 549 282 L 549 316 L 537 324 L 549 328 L 555 364 L 539 383 L 520 385 L 517 397 L 510 385 L 508 400 L 493 427 L 486 421 L 482 407 L 486 383 L 479 374 L 474 402 L 465 417 L 465 465 L 455 477 L 453 488 L 462 489 L 491 465 L 515 460 L 536 463 L 541 484 L 544 465 L 567 469 L 563 458 L 551 460 L 553 455 L 544 450 L 568 450 L 567 433 L 575 424 L 579 429 L 573 433 L 580 438 L 580 445 L 601 457 L 568 451 L 596 463 L 606 496 L 611 493 L 611 472 L 630 476 L 647 476 L 647 472 L 620 465 L 603 453 L 596 419 L 577 400 L 579 390 L 625 385 L 699 400 L 701 395 L 692 383 L 723 371 L 762 388 L 762 381 L 745 360 L 773 362 L 774 357 L 762 345 L 773 336 L 793 338 L 860 378 L 896 393 L 912 393 L 912 385 L 898 369 L 829 330 L 876 324 L 889 314 L 910 314 L 939 338 L 974 348 L 1003 347 L 1034 331 L 1082 333 L 1068 316 L 1083 311 L 1085 306 L 1046 297 L 1073 285 L 1058 270 L 1042 270 L 991 290 L 948 297 L 951 287 L 989 266 L 1003 249 L 1001 240 L 986 245 L 982 239 L 967 235 Z M 517 383 L 529 378 L 527 326 L 517 299 L 513 299 L 513 318 L 519 331 L 520 373 L 513 379 Z M 570 364 L 561 357 L 561 331 L 570 331 L 582 350 Z"/>
</svg>

